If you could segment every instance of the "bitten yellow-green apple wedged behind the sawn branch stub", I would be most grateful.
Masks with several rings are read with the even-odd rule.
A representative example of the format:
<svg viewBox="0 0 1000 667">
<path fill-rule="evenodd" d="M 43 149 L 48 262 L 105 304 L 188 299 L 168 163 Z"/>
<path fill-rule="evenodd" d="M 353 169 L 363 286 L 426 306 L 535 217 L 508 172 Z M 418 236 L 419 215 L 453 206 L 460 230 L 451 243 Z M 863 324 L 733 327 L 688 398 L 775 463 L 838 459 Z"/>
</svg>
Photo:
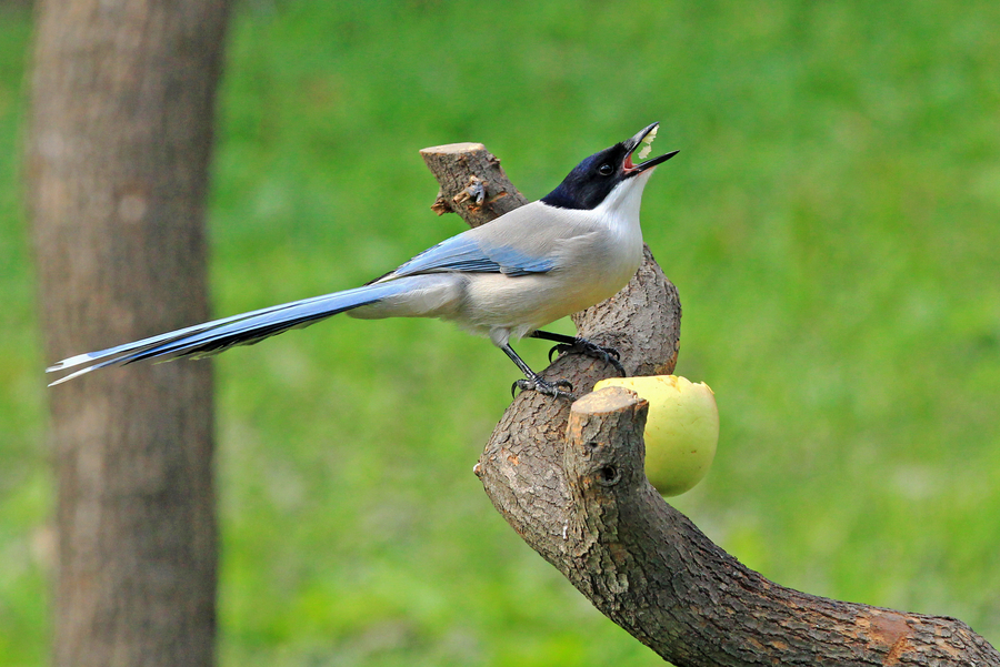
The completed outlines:
<svg viewBox="0 0 1000 667">
<path fill-rule="evenodd" d="M 678 375 L 609 377 L 608 386 L 631 390 L 649 402 L 646 476 L 664 496 L 679 496 L 701 482 L 716 457 L 719 408 L 712 390 Z"/>
</svg>

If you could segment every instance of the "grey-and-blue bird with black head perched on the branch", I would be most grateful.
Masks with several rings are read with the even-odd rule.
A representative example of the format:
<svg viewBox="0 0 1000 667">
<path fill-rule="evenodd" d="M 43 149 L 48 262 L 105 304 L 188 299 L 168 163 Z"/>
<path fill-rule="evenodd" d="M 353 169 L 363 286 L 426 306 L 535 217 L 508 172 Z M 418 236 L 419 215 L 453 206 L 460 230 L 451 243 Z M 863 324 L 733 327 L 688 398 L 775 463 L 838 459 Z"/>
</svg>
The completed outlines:
<svg viewBox="0 0 1000 667">
<path fill-rule="evenodd" d="M 107 366 L 218 354 L 338 313 L 453 321 L 489 337 L 520 368 L 524 378 L 511 393 L 572 396 L 569 382 L 543 380 L 514 352 L 511 341 L 526 336 L 558 343 L 550 358 L 553 351 L 588 354 L 624 375 L 616 350 L 542 327 L 613 296 L 639 269 L 642 191 L 654 168 L 679 152 L 642 161 L 658 125 L 584 159 L 540 200 L 451 236 L 364 285 L 78 354 L 46 370 L 76 368 L 49 386 Z"/>
</svg>

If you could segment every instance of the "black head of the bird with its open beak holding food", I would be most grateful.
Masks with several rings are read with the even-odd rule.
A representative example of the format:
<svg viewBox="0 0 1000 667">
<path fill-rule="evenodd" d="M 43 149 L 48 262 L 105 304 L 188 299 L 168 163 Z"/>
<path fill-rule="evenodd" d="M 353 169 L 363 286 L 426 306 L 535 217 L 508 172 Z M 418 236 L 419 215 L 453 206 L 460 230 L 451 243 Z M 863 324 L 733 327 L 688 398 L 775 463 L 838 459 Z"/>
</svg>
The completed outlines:
<svg viewBox="0 0 1000 667">
<path fill-rule="evenodd" d="M 652 158 L 639 164 L 632 164 L 632 152 L 642 140 L 657 129 L 652 123 L 639 131 L 634 137 L 616 143 L 600 153 L 594 153 L 573 169 L 559 186 L 542 198 L 550 206 L 560 209 L 596 209 L 604 201 L 614 188 L 643 171 L 673 158 L 672 151 L 659 158 Z"/>
</svg>

